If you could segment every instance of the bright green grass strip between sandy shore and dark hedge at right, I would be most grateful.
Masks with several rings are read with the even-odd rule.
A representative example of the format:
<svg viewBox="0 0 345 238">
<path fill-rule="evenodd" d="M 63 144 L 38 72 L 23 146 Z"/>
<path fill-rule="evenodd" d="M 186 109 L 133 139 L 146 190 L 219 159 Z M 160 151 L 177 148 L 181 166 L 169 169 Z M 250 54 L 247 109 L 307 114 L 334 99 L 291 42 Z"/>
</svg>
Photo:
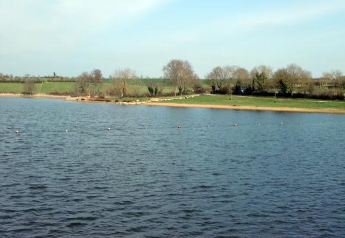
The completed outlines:
<svg viewBox="0 0 345 238">
<path fill-rule="evenodd" d="M 231 98 L 231 100 L 230 100 Z M 345 109 L 344 101 L 331 100 L 307 100 L 291 98 L 271 98 L 258 96 L 222 96 L 205 95 L 195 98 L 164 101 L 168 103 L 188 103 L 203 105 L 229 105 L 229 106 L 254 106 L 254 107 L 296 107 L 311 109 Z"/>
</svg>

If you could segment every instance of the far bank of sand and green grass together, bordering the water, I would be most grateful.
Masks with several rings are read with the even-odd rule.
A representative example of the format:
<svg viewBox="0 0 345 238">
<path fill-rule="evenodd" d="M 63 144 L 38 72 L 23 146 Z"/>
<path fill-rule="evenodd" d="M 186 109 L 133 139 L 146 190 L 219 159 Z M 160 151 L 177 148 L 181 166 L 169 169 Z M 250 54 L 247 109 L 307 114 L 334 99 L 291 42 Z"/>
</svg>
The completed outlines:
<svg viewBox="0 0 345 238">
<path fill-rule="evenodd" d="M 257 96 L 199 95 L 163 98 L 89 98 L 55 96 L 50 94 L 0 94 L 0 97 L 50 98 L 73 102 L 112 103 L 121 105 L 148 105 L 162 107 L 199 107 L 210 109 L 235 109 L 252 111 L 287 111 L 307 113 L 345 114 L 345 102 L 337 100 L 306 100 Z"/>
</svg>

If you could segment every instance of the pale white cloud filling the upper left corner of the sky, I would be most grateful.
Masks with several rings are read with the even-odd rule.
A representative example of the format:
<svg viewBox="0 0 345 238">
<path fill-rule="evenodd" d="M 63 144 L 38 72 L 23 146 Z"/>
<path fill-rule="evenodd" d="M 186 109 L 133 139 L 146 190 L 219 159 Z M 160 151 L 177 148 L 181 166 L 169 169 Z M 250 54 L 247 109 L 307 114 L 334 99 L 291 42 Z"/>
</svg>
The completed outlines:
<svg viewBox="0 0 345 238">
<path fill-rule="evenodd" d="M 83 38 L 139 19 L 159 0 L 0 0 L 3 54 L 72 49 Z"/>
</svg>

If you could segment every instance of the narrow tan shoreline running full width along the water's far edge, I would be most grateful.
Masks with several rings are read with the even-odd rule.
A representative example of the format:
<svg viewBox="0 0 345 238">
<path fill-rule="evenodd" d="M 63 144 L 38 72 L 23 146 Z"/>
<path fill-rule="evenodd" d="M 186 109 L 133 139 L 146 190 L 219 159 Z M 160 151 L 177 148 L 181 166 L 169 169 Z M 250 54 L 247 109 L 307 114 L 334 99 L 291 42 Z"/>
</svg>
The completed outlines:
<svg viewBox="0 0 345 238">
<path fill-rule="evenodd" d="M 304 108 L 304 107 L 259 107 L 259 106 L 233 106 L 233 105 L 210 105 L 210 104 L 190 104 L 190 103 L 174 103 L 174 102 L 161 102 L 154 101 L 141 101 L 141 102 L 114 102 L 101 101 L 101 100 L 88 100 L 84 97 L 73 98 L 71 96 L 59 96 L 50 94 L 8 94 L 0 93 L 0 98 L 48 98 L 48 99 L 64 99 L 69 102 L 91 102 L 91 103 L 111 103 L 116 105 L 144 105 L 155 107 L 185 107 L 185 108 L 206 108 L 206 109 L 231 109 L 231 110 L 244 110 L 244 111 L 282 111 L 282 112 L 299 112 L 299 113 L 332 113 L 332 114 L 345 114 L 345 109 L 331 109 L 331 108 Z M 83 98 L 83 100 L 81 100 Z M 176 98 L 174 98 L 176 99 Z"/>
</svg>

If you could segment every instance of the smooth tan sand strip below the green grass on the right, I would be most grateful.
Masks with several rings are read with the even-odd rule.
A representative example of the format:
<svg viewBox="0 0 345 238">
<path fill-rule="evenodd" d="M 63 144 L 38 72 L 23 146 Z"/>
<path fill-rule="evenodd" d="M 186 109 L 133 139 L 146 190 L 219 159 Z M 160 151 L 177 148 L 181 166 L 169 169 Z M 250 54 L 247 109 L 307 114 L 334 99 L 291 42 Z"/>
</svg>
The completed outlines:
<svg viewBox="0 0 345 238">
<path fill-rule="evenodd" d="M 250 110 L 250 111 L 288 111 L 288 112 L 308 112 L 308 113 L 337 113 L 345 114 L 343 109 L 312 109 L 312 108 L 295 108 L 295 107 L 255 107 L 255 106 L 230 106 L 230 105 L 204 105 L 204 104 L 187 104 L 187 103 L 166 103 L 166 102 L 148 102 L 148 106 L 160 107 L 199 107 L 210 109 L 233 109 L 233 110 Z"/>
</svg>

